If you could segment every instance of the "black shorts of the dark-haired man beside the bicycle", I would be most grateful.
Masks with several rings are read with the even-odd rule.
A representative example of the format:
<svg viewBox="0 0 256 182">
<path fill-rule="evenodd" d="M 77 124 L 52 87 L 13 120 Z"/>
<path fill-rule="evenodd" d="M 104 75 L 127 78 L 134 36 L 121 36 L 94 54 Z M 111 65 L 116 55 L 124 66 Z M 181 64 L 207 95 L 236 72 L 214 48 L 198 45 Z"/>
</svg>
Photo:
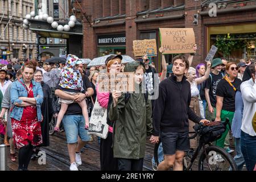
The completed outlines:
<svg viewBox="0 0 256 182">
<path fill-rule="evenodd" d="M 163 152 L 165 155 L 174 155 L 177 150 L 189 150 L 188 131 L 179 133 L 160 132 L 160 138 L 163 144 Z"/>
</svg>

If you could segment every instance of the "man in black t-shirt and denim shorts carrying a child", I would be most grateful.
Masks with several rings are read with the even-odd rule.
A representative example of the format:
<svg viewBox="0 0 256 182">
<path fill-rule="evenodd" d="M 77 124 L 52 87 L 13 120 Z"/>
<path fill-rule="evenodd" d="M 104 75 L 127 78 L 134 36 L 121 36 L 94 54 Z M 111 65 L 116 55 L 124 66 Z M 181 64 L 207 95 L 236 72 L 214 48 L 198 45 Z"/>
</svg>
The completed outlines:
<svg viewBox="0 0 256 182">
<path fill-rule="evenodd" d="M 82 72 L 83 65 L 79 64 L 79 71 Z M 85 93 L 78 93 L 75 96 L 69 95 L 63 92 L 64 89 L 59 88 L 59 85 L 56 87 L 55 94 L 58 97 L 74 100 L 76 102 L 81 102 L 86 97 L 93 95 L 92 84 L 89 81 L 88 76 L 84 75 L 82 77 L 83 88 L 86 90 Z M 77 164 L 81 165 L 81 149 L 85 144 L 90 140 L 88 135 L 88 130 L 85 130 L 85 120 L 82 116 L 82 109 L 77 103 L 68 105 L 68 109 L 63 117 L 63 125 L 65 129 L 65 134 L 67 137 L 68 143 L 68 154 L 71 166 L 69 169 L 71 171 L 78 171 Z"/>
</svg>

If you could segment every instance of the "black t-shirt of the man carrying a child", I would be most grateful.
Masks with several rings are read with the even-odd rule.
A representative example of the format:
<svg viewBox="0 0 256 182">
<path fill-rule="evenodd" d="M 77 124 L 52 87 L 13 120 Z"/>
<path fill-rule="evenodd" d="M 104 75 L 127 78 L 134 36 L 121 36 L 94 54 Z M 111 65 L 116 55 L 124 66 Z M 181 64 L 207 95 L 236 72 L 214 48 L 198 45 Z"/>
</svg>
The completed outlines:
<svg viewBox="0 0 256 182">
<path fill-rule="evenodd" d="M 90 83 L 88 76 L 84 75 L 82 77 L 82 83 L 83 83 L 82 86 L 83 86 L 84 90 L 87 90 L 88 88 L 92 88 L 92 84 Z M 61 89 L 59 84 L 57 84 L 56 89 Z M 63 89 L 61 89 L 61 90 L 63 90 Z M 86 103 L 88 105 L 87 100 L 86 100 Z M 77 103 L 69 104 L 65 115 L 82 115 L 82 108 Z"/>
</svg>

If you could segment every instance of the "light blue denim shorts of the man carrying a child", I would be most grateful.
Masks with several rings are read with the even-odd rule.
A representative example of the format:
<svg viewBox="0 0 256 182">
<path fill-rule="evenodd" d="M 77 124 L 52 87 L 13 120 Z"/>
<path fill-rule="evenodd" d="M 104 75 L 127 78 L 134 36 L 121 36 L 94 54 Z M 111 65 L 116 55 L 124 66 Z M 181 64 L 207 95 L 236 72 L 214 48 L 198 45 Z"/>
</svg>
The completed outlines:
<svg viewBox="0 0 256 182">
<path fill-rule="evenodd" d="M 77 143 L 78 136 L 84 142 L 90 140 L 88 130 L 85 130 L 85 121 L 82 115 L 64 115 L 62 122 L 67 137 L 67 143 Z"/>
</svg>

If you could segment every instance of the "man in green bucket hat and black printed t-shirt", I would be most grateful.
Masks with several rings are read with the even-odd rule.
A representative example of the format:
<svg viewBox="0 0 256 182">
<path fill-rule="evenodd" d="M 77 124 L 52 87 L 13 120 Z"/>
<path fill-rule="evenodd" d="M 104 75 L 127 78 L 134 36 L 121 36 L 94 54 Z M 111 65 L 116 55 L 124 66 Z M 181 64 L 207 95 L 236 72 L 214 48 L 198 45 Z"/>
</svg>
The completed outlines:
<svg viewBox="0 0 256 182">
<path fill-rule="evenodd" d="M 213 71 L 210 73 L 209 78 L 205 81 L 205 100 L 207 100 L 208 108 L 205 110 L 206 119 L 211 121 L 215 118 L 214 110 L 216 107 L 216 90 L 218 82 L 221 81 L 224 76 L 221 73 L 222 61 L 220 58 L 216 58 L 212 61 Z"/>
</svg>

